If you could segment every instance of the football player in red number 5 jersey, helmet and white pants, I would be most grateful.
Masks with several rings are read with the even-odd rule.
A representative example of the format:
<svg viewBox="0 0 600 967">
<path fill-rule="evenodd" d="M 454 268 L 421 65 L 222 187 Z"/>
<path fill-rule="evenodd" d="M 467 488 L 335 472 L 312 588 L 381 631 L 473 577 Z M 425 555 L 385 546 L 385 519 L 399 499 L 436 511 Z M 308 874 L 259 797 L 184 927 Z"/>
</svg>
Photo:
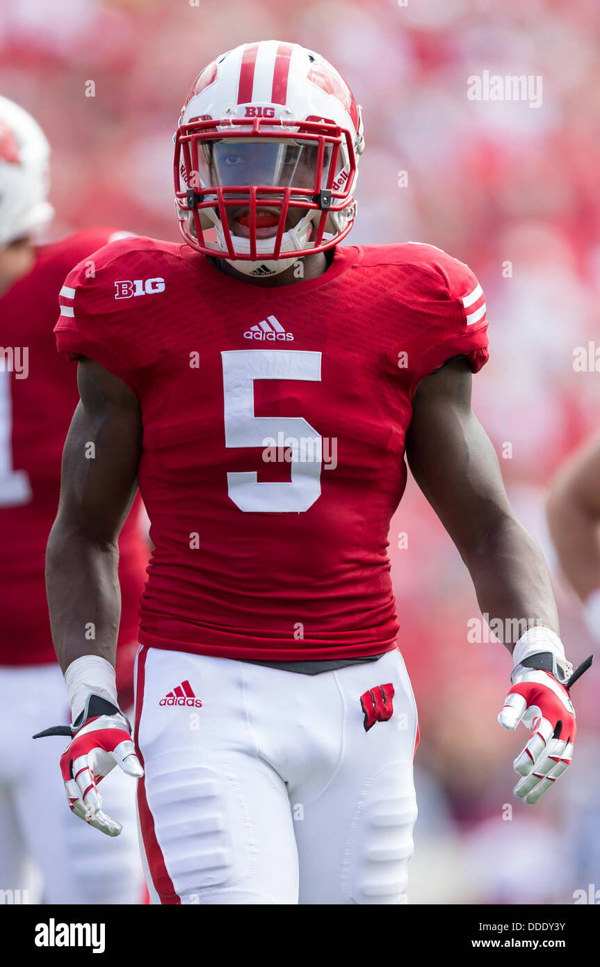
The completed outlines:
<svg viewBox="0 0 600 967">
<path fill-rule="evenodd" d="M 63 290 L 58 347 L 81 396 L 47 551 L 77 730 L 63 774 L 73 811 L 110 833 L 99 778 L 143 769 L 155 902 L 403 900 L 417 721 L 386 539 L 405 455 L 482 609 L 521 624 L 500 714 L 534 723 L 516 794 L 535 802 L 570 760 L 548 573 L 471 412 L 481 286 L 431 246 L 340 246 L 363 146 L 319 54 L 243 44 L 198 75 L 180 119 L 186 244 L 113 245 Z M 134 749 L 111 681 L 111 548 L 136 480 L 155 551 Z"/>
</svg>

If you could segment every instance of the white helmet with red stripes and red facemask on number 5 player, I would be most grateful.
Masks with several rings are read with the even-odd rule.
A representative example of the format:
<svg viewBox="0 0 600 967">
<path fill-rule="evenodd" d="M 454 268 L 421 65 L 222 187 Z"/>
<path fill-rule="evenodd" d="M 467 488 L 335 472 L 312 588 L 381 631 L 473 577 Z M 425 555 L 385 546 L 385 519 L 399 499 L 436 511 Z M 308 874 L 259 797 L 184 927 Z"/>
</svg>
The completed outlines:
<svg viewBox="0 0 600 967">
<path fill-rule="evenodd" d="M 186 242 L 240 272 L 282 272 L 352 228 L 360 107 L 341 74 L 300 44 L 261 41 L 217 57 L 192 84 L 174 140 Z M 211 228 L 216 241 L 205 239 Z"/>
</svg>

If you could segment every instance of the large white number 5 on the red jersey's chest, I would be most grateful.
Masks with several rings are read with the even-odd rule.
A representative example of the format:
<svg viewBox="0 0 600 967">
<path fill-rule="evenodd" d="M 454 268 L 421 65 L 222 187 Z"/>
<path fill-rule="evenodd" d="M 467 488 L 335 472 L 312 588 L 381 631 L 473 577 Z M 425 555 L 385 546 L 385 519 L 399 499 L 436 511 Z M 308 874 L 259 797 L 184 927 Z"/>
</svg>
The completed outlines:
<svg viewBox="0 0 600 967">
<path fill-rule="evenodd" d="M 221 352 L 225 446 L 263 448 L 283 434 L 292 448 L 291 480 L 260 482 L 257 473 L 227 474 L 227 492 L 241 511 L 302 513 L 321 495 L 322 437 L 301 417 L 255 417 L 255 379 L 321 381 L 321 353 L 298 349 L 232 349 Z M 318 458 L 299 459 L 298 441 L 314 441 Z M 297 441 L 296 449 L 289 441 Z M 311 456 L 314 451 L 311 451 Z"/>
</svg>

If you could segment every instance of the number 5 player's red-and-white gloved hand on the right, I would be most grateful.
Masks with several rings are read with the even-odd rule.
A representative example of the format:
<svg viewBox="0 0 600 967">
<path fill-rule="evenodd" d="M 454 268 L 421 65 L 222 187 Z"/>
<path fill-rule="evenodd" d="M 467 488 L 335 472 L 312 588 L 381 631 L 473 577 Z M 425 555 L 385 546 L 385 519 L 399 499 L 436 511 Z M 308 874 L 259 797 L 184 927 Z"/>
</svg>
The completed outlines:
<svg viewBox="0 0 600 967">
<path fill-rule="evenodd" d="M 562 683 L 539 668 L 521 665 L 513 674 L 498 720 L 510 731 L 520 721 L 529 728 L 529 742 L 513 763 L 521 777 L 513 792 L 525 803 L 537 803 L 571 764 L 577 725 L 569 689 L 590 664 L 591 658 L 586 659 L 568 678 L 561 676 L 566 679 Z"/>
</svg>

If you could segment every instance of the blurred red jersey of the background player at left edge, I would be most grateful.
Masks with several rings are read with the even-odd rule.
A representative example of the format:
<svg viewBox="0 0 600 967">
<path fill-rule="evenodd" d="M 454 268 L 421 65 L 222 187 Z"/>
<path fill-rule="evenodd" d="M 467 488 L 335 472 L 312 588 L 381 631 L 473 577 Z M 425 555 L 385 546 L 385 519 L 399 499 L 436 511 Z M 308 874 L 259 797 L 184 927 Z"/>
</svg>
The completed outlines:
<svg viewBox="0 0 600 967">
<path fill-rule="evenodd" d="M 37 249 L 32 271 L 0 297 L 0 665 L 56 660 L 45 598 L 45 545 L 79 394 L 75 368 L 57 354 L 52 330 L 66 274 L 112 234 L 113 229 L 93 228 Z M 123 642 L 136 639 L 146 576 L 140 506 L 137 498 L 120 539 Z"/>
</svg>

